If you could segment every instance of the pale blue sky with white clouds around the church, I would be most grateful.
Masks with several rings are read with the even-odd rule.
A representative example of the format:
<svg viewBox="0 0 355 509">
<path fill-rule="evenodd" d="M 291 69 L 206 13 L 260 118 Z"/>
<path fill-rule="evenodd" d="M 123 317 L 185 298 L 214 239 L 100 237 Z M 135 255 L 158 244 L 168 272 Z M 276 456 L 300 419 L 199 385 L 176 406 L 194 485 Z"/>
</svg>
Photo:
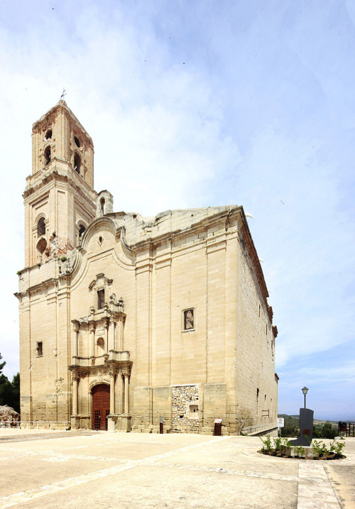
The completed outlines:
<svg viewBox="0 0 355 509">
<path fill-rule="evenodd" d="M 279 412 L 355 419 L 355 3 L 0 5 L 0 352 L 18 371 L 31 125 L 67 89 L 114 209 L 241 204 L 278 326 Z"/>
</svg>

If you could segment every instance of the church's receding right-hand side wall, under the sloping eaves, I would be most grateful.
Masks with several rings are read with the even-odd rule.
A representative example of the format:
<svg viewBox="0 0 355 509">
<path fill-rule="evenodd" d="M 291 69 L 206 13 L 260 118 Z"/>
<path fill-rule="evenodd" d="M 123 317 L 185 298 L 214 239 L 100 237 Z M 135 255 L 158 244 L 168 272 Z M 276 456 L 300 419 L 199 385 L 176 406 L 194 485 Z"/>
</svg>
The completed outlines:
<svg viewBox="0 0 355 509">
<path fill-rule="evenodd" d="M 241 295 L 237 336 L 237 407 L 240 431 L 275 429 L 278 392 L 275 383 L 274 338 L 251 258 L 239 245 Z"/>
</svg>

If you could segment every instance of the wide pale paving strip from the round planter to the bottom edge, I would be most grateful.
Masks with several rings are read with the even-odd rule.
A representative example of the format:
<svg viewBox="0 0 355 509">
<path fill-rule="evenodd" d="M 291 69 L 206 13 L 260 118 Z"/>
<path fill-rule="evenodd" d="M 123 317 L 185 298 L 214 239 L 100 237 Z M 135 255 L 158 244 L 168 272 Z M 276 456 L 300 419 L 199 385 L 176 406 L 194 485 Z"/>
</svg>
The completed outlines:
<svg viewBox="0 0 355 509">
<path fill-rule="evenodd" d="M 298 464 L 297 509 L 340 509 L 322 463 Z"/>
</svg>

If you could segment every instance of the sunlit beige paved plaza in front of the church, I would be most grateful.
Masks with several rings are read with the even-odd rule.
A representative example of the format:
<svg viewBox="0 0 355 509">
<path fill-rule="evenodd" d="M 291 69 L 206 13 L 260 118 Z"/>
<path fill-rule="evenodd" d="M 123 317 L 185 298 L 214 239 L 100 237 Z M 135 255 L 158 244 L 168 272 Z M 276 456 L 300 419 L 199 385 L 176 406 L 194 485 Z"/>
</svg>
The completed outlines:
<svg viewBox="0 0 355 509">
<path fill-rule="evenodd" d="M 258 437 L 0 429 L 0 508 L 355 508 L 354 438 L 338 461 L 260 448 Z"/>
</svg>

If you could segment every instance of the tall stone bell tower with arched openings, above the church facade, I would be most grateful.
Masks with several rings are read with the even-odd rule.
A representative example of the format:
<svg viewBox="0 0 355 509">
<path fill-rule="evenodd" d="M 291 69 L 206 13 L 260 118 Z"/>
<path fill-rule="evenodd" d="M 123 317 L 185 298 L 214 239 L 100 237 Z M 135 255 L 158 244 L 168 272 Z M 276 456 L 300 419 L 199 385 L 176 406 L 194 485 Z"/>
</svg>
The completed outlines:
<svg viewBox="0 0 355 509">
<path fill-rule="evenodd" d="M 72 251 L 95 217 L 92 138 L 62 99 L 33 124 L 32 175 L 26 183 L 30 267 Z"/>
</svg>

